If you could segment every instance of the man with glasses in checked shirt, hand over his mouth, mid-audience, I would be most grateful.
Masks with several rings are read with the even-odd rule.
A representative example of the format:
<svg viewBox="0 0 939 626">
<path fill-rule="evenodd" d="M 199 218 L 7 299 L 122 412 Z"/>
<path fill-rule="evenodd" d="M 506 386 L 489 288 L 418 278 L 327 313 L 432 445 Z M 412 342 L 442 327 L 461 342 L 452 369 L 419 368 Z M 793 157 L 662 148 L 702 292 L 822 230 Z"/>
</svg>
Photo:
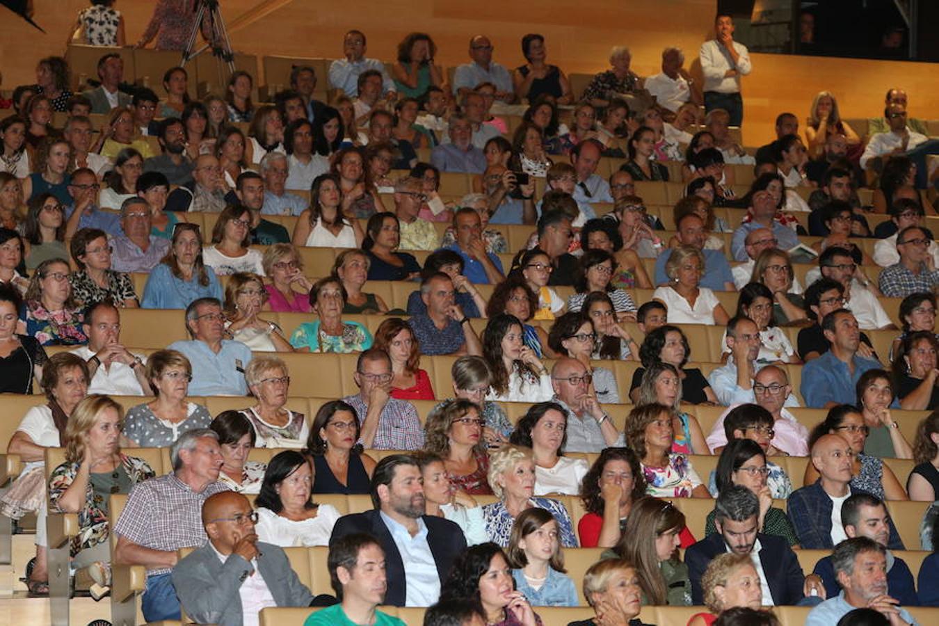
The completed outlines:
<svg viewBox="0 0 939 626">
<path fill-rule="evenodd" d="M 392 359 L 378 348 L 365 350 L 353 376 L 359 393 L 343 400 L 355 409 L 362 426 L 359 441 L 373 450 L 421 450 L 423 426 L 417 409 L 392 397 Z"/>
</svg>

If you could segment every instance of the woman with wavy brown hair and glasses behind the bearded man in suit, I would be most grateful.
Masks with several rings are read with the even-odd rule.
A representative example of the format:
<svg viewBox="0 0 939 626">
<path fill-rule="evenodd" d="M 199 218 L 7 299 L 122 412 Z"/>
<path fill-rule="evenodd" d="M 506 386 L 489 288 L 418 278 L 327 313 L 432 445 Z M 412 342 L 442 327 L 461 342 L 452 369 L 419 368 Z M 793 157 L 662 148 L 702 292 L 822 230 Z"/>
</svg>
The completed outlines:
<svg viewBox="0 0 939 626">
<path fill-rule="evenodd" d="M 486 478 L 489 456 L 485 450 L 485 420 L 479 406 L 469 400 L 448 400 L 434 407 L 424 424 L 424 450 L 443 459 L 453 488 L 470 496 L 490 496 Z"/>
</svg>

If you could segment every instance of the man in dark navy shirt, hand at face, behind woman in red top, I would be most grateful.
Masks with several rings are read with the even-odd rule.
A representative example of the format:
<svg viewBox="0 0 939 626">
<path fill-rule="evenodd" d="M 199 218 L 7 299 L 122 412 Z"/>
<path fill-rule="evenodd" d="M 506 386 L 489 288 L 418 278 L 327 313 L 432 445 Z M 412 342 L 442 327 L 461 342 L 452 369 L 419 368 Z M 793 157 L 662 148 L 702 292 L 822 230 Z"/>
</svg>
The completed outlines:
<svg viewBox="0 0 939 626">
<path fill-rule="evenodd" d="M 469 317 L 454 302 L 454 294 L 454 282 L 443 272 L 431 274 L 421 282 L 421 299 L 427 311 L 412 316 L 408 324 L 421 344 L 422 354 L 483 354 L 483 344 L 470 326 Z"/>
</svg>

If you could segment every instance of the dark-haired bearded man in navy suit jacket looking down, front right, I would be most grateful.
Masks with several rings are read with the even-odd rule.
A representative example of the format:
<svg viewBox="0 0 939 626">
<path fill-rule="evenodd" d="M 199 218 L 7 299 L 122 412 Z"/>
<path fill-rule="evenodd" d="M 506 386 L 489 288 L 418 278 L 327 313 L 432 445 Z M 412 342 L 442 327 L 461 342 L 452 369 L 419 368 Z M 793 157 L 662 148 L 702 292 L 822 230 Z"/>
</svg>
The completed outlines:
<svg viewBox="0 0 939 626">
<path fill-rule="evenodd" d="M 685 550 L 685 565 L 691 579 L 691 603 L 704 603 L 701 577 L 711 559 L 726 552 L 749 554 L 761 578 L 766 580 L 772 604 L 796 604 L 812 588 L 824 598 L 822 579 L 815 574 L 803 576 L 793 549 L 782 537 L 759 532 L 760 501 L 747 487 L 734 485 L 720 492 L 715 503 L 717 533 Z M 766 598 L 766 589 L 763 589 Z M 765 600 L 763 602 L 766 604 Z"/>
</svg>

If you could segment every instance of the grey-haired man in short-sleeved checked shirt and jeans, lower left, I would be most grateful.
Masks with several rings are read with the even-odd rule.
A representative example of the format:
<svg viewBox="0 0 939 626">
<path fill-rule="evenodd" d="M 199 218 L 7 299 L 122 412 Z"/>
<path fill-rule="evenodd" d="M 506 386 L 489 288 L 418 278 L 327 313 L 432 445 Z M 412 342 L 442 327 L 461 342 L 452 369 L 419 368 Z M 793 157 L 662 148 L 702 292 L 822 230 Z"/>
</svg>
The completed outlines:
<svg viewBox="0 0 939 626">
<path fill-rule="evenodd" d="M 223 458 L 215 431 L 197 428 L 180 435 L 170 458 L 173 473 L 135 485 L 114 527 L 114 564 L 146 567 L 141 601 L 146 621 L 179 619 L 170 579 L 177 550 L 206 542 L 202 505 L 208 496 L 228 490 L 218 481 Z"/>
</svg>

